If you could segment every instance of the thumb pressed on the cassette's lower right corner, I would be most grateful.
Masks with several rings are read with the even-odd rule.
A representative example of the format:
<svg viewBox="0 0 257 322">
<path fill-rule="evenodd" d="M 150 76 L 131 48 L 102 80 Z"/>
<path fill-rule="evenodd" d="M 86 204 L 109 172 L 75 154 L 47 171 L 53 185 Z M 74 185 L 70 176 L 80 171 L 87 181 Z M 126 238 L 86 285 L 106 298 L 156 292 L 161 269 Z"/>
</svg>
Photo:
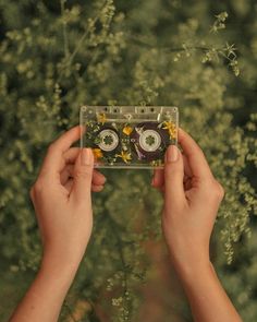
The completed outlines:
<svg viewBox="0 0 257 322">
<path fill-rule="evenodd" d="M 164 165 L 164 199 L 168 210 L 181 207 L 185 202 L 183 186 L 184 164 L 181 151 L 176 145 L 170 145 L 166 152 Z"/>
</svg>

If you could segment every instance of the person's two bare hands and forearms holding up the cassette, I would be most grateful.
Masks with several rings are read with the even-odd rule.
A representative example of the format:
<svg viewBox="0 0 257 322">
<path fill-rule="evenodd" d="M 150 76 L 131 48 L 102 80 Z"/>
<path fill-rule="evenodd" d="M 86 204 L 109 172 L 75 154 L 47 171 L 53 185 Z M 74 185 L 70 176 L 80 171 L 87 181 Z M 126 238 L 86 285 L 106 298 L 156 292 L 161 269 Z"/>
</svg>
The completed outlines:
<svg viewBox="0 0 257 322">
<path fill-rule="evenodd" d="M 10 322 L 56 322 L 86 251 L 93 228 L 91 191 L 106 178 L 94 170 L 90 148 L 71 147 L 79 139 L 75 127 L 53 142 L 30 189 L 42 239 L 38 274 Z M 171 261 L 185 289 L 195 321 L 242 321 L 209 260 L 209 239 L 223 189 L 204 153 L 182 129 L 183 153 L 170 146 L 164 170 L 152 186 L 164 199 L 162 228 Z"/>
</svg>

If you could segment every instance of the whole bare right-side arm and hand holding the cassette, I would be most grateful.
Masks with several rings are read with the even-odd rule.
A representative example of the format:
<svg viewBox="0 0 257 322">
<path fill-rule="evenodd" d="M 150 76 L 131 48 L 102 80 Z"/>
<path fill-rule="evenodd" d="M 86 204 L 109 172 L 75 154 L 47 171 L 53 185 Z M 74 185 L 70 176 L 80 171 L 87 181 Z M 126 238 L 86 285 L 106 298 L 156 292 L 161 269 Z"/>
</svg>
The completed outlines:
<svg viewBox="0 0 257 322">
<path fill-rule="evenodd" d="M 152 186 L 164 198 L 162 228 L 171 261 L 197 322 L 242 322 L 209 260 L 209 240 L 224 192 L 205 155 L 182 129 Z"/>
</svg>

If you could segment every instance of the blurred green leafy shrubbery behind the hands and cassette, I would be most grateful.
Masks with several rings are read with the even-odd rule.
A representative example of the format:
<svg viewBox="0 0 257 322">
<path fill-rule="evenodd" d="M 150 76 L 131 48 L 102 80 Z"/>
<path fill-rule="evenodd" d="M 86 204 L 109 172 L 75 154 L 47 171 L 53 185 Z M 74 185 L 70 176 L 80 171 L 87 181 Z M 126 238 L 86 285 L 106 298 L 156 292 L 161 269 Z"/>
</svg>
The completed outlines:
<svg viewBox="0 0 257 322">
<path fill-rule="evenodd" d="M 0 321 L 41 254 L 28 190 L 88 105 L 175 105 L 225 189 L 211 258 L 257 321 L 257 3 L 0 0 Z M 105 170 L 90 245 L 60 321 L 193 321 L 167 260 L 148 170 Z"/>
</svg>

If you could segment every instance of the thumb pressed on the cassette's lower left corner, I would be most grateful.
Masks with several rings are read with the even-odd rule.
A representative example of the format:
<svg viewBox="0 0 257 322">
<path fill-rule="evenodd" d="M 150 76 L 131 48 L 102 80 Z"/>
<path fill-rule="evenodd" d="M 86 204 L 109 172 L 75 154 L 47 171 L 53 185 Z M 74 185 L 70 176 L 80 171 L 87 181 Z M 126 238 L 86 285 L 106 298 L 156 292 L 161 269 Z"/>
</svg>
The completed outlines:
<svg viewBox="0 0 257 322">
<path fill-rule="evenodd" d="M 94 169 L 94 154 L 90 148 L 83 148 L 78 154 L 74 167 L 74 182 L 72 194 L 78 202 L 87 200 L 91 191 Z"/>
</svg>

